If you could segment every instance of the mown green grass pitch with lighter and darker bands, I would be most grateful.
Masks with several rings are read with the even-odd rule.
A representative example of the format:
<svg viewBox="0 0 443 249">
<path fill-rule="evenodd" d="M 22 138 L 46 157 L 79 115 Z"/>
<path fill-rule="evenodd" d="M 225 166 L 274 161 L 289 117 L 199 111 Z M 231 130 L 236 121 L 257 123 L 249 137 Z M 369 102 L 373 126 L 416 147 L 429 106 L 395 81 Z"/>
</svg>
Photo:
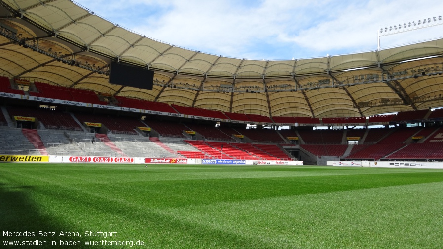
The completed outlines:
<svg viewBox="0 0 443 249">
<path fill-rule="evenodd" d="M 443 170 L 1 163 L 0 227 L 0 248 L 437 249 Z"/>
</svg>

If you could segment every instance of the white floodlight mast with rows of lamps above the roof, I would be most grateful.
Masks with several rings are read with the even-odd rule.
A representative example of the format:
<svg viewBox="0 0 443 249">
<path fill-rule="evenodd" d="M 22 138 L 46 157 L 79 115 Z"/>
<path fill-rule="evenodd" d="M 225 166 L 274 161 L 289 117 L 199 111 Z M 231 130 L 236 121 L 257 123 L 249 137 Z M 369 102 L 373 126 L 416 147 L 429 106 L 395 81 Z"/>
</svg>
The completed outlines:
<svg viewBox="0 0 443 249">
<path fill-rule="evenodd" d="M 433 18 L 424 18 L 420 19 L 418 21 L 412 21 L 408 23 L 398 24 L 394 26 L 389 26 L 385 28 L 380 28 L 377 31 L 377 49 L 380 51 L 380 37 L 381 36 L 389 36 L 389 35 L 395 35 L 403 32 L 413 31 L 413 30 L 419 30 L 429 27 L 434 27 L 438 25 L 442 25 L 442 16 L 439 15 L 438 17 Z"/>
</svg>

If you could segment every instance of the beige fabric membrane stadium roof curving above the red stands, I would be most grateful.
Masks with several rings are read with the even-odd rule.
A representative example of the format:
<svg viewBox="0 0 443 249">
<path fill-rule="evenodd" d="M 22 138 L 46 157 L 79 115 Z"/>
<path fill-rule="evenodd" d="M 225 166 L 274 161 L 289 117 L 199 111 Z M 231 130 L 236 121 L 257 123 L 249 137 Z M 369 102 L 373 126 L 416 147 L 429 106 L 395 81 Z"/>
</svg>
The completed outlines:
<svg viewBox="0 0 443 249">
<path fill-rule="evenodd" d="M 8 77 L 265 116 L 358 117 L 443 106 L 443 39 L 322 58 L 247 60 L 142 36 L 70 0 L 0 0 L 0 15 L 0 74 Z M 153 90 L 110 84 L 112 61 L 154 70 Z"/>
</svg>

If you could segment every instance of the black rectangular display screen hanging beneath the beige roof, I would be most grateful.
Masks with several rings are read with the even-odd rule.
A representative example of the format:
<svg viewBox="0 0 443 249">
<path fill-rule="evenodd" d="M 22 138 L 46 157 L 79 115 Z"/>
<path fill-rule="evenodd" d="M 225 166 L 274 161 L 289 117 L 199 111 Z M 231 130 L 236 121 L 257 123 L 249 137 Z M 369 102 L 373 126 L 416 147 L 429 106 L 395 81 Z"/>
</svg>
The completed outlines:
<svg viewBox="0 0 443 249">
<path fill-rule="evenodd" d="M 112 62 L 109 83 L 152 90 L 154 71 L 128 64 Z"/>
</svg>

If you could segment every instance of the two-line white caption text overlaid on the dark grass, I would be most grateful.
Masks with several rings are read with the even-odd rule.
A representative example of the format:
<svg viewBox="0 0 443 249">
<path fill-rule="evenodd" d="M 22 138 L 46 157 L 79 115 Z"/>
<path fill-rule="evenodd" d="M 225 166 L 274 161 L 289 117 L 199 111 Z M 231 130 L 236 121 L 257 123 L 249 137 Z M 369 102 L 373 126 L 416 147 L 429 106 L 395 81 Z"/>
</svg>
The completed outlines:
<svg viewBox="0 0 443 249">
<path fill-rule="evenodd" d="M 120 238 L 117 231 L 3 231 L 3 246 L 28 248 L 32 246 L 110 246 L 112 247 L 133 247 L 145 246 L 145 242 L 136 240 L 127 240 Z M 0 246 L 1 248 L 1 246 Z"/>
</svg>

